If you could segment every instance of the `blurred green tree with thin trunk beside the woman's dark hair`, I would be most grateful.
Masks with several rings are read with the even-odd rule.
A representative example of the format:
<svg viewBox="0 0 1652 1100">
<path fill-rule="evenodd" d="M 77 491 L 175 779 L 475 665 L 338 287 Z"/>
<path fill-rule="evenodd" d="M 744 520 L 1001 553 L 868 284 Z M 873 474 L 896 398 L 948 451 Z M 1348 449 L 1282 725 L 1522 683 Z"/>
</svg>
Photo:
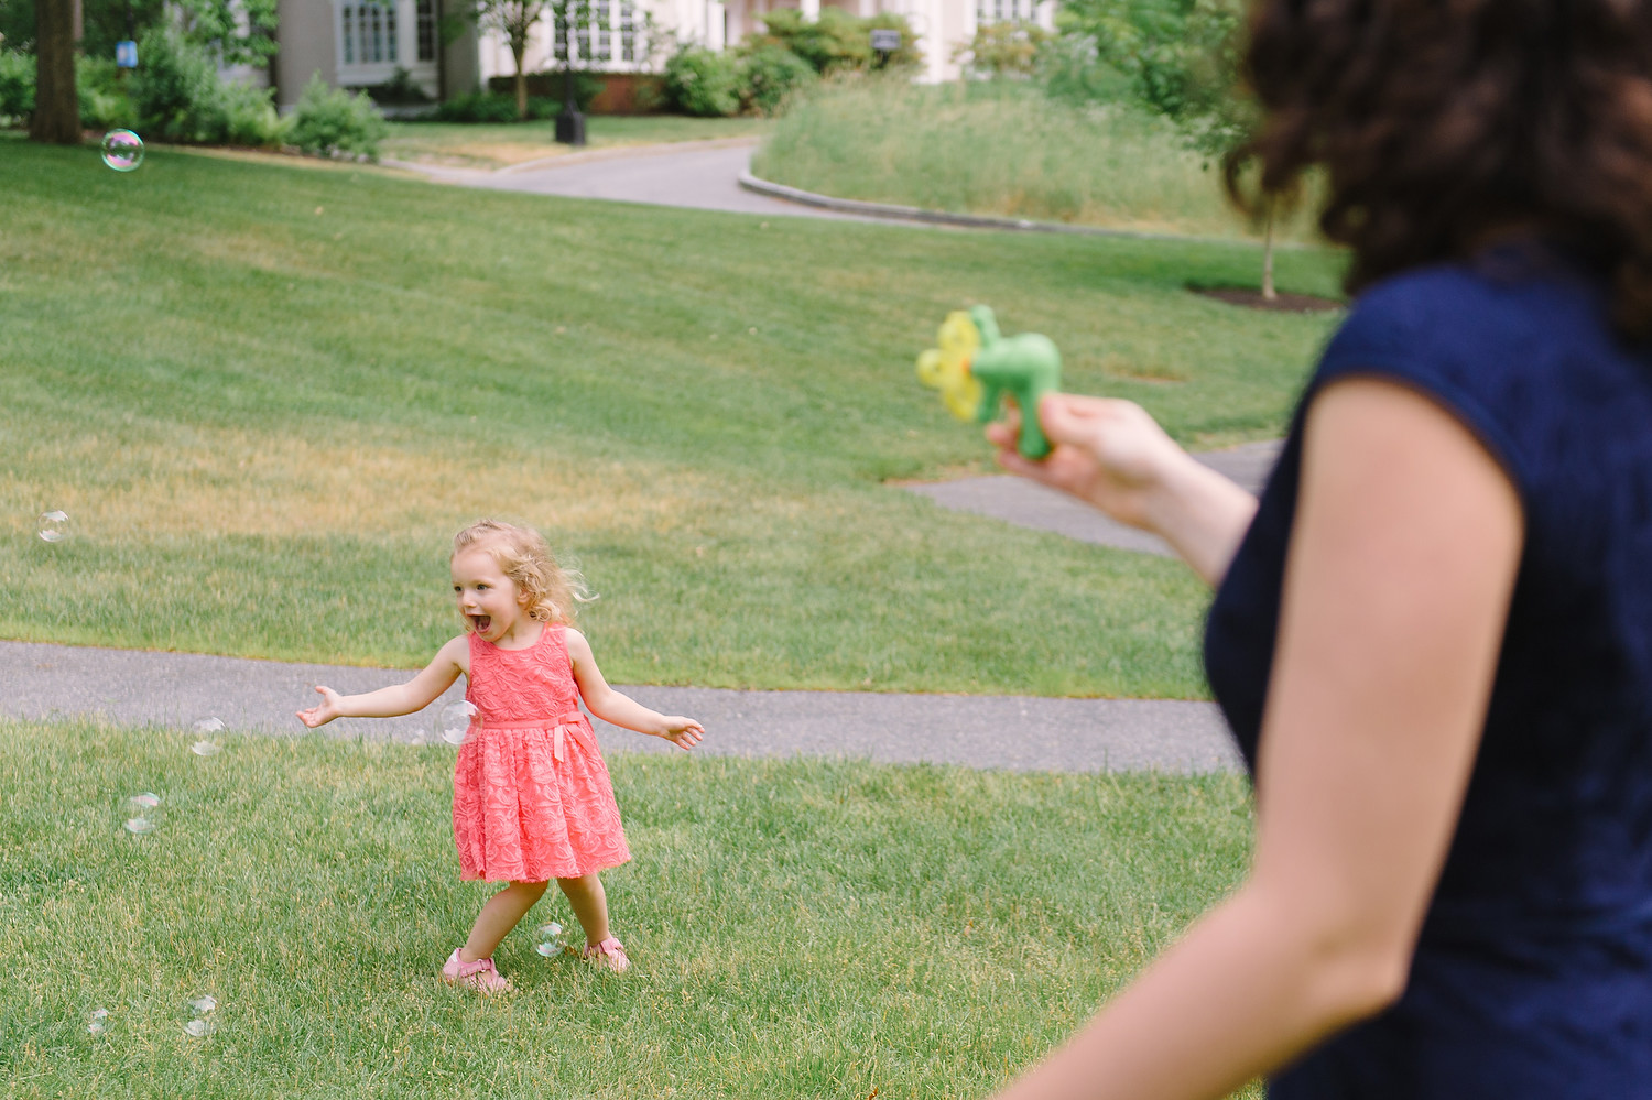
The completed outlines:
<svg viewBox="0 0 1652 1100">
<path fill-rule="evenodd" d="M 1241 81 L 1242 0 L 1067 0 L 1056 17 L 1125 76 L 1133 99 L 1170 119 L 1208 160 L 1237 149 L 1259 121 Z M 1264 208 L 1262 297 L 1274 301 L 1275 202 Z"/>
</svg>

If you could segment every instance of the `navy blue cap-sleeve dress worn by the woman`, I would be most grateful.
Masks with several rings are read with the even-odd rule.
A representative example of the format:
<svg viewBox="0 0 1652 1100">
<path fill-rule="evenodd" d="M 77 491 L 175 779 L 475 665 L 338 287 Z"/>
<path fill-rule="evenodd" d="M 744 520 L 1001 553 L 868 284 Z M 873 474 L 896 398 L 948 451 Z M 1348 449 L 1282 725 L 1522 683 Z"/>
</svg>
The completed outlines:
<svg viewBox="0 0 1652 1100">
<path fill-rule="evenodd" d="M 1602 281 L 1536 246 L 1361 296 L 1206 624 L 1211 689 L 1252 773 L 1303 410 L 1350 375 L 1465 424 L 1517 487 L 1526 542 L 1404 996 L 1269 1095 L 1652 1098 L 1652 357 L 1614 339 Z"/>
</svg>

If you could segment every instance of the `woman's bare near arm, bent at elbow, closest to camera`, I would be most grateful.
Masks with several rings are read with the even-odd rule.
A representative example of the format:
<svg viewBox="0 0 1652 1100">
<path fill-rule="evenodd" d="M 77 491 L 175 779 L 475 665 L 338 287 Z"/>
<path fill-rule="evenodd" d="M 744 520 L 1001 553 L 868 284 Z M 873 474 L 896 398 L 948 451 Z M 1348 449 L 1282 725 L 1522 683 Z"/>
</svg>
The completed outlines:
<svg viewBox="0 0 1652 1100">
<path fill-rule="evenodd" d="M 1328 386 L 1302 497 L 1232 898 L 1004 1097 L 1221 1097 L 1404 989 L 1474 766 L 1523 542 L 1450 415 Z"/>
</svg>

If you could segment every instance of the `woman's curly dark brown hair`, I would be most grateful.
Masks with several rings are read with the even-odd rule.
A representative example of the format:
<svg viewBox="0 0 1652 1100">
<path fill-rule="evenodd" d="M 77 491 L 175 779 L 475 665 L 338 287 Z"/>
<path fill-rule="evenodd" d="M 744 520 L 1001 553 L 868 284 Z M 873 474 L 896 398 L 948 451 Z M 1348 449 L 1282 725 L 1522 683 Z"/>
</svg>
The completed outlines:
<svg viewBox="0 0 1652 1100">
<path fill-rule="evenodd" d="M 1247 71 L 1265 117 L 1227 190 L 1257 211 L 1323 165 L 1350 291 L 1528 226 L 1652 337 L 1652 0 L 1259 0 Z"/>
</svg>

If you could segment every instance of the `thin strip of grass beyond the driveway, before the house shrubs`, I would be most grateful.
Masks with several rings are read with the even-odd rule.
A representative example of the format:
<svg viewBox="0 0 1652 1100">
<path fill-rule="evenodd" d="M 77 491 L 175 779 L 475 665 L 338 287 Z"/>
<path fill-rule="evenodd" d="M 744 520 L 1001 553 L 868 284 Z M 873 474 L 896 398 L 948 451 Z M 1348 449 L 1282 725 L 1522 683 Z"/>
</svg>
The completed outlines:
<svg viewBox="0 0 1652 1100">
<path fill-rule="evenodd" d="M 691 119 L 679 114 L 590 114 L 585 139 L 590 149 L 659 145 L 724 137 L 758 137 L 768 119 Z M 499 168 L 542 157 L 577 152 L 555 142 L 555 122 L 392 122 L 380 155 L 466 168 Z"/>
</svg>

